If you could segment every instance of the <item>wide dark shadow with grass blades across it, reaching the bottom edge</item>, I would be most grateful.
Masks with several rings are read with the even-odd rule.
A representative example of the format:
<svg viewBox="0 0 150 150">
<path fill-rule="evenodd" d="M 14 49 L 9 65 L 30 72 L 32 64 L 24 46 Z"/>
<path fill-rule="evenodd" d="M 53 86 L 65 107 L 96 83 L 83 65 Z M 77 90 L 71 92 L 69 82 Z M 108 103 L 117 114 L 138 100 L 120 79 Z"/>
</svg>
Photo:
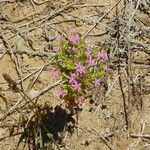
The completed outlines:
<svg viewBox="0 0 150 150">
<path fill-rule="evenodd" d="M 75 119 L 61 106 L 38 107 L 35 114 L 38 115 L 33 115 L 32 119 L 23 123 L 24 131 L 19 138 L 17 148 L 24 140 L 29 150 L 37 150 L 41 147 L 49 149 L 52 144 L 64 146 L 63 133 L 65 131 L 71 135 L 74 133 Z"/>
</svg>

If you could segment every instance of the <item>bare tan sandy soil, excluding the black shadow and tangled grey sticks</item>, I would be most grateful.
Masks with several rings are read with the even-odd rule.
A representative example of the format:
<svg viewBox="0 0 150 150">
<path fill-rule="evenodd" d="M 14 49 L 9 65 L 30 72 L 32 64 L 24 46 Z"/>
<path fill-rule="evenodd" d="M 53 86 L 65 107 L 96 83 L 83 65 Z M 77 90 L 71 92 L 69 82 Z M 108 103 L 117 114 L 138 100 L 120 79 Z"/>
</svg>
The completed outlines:
<svg viewBox="0 0 150 150">
<path fill-rule="evenodd" d="M 28 93 L 31 98 L 34 97 L 37 92 L 45 88 L 48 84 L 55 82 L 50 76 L 49 66 L 42 69 L 41 73 L 39 73 L 40 71 L 33 73 L 48 62 L 47 54 L 51 53 L 52 40 L 55 35 L 57 33 L 65 34 L 69 27 L 76 27 L 79 33 L 84 35 L 93 23 L 103 16 L 116 1 L 82 0 L 80 5 L 96 4 L 97 7 L 80 7 L 76 6 L 79 4 L 77 3 L 74 7 L 65 9 L 64 7 L 70 3 L 71 1 L 69 0 L 47 2 L 44 2 L 44 0 L 2 0 L 0 2 L 0 31 L 6 39 L 4 42 L 3 37 L 0 38 L 0 118 L 21 98 L 20 94 L 14 93 L 10 89 L 3 74 L 7 73 L 24 90 L 27 89 L 31 80 L 34 80 L 39 74 L 32 90 Z M 119 5 L 119 8 L 121 7 L 122 3 Z M 63 10 L 61 10 L 62 8 Z M 57 10 L 58 13 L 56 13 Z M 113 16 L 114 12 L 112 10 L 109 15 Z M 49 16 L 51 16 L 50 19 L 47 19 Z M 143 13 L 139 17 L 145 22 L 145 26 L 149 26 L 150 21 L 148 21 L 146 14 Z M 86 43 L 93 46 L 95 44 L 101 45 L 101 43 L 107 41 L 109 35 L 101 34 L 106 32 L 106 26 L 109 25 L 111 25 L 111 20 L 109 17 L 106 17 L 85 38 Z M 149 37 L 144 41 L 149 41 Z M 15 59 L 13 55 L 5 53 L 9 50 L 14 52 Z M 104 98 L 108 91 L 105 91 L 102 87 L 98 95 L 93 96 L 93 100 L 95 101 L 93 104 L 89 103 L 90 99 L 87 100 L 84 110 L 79 114 L 78 127 L 74 129 L 74 133 L 71 135 L 65 129 L 60 133 L 65 145 L 65 148 L 62 147 L 61 149 L 150 149 L 149 54 L 141 51 L 134 52 L 133 60 L 147 63 L 142 65 L 133 63 L 132 65 L 135 95 L 131 93 L 131 106 L 128 116 L 129 129 L 126 129 L 123 98 L 119 80 L 116 80 L 118 73 L 114 69 L 112 70 L 112 74 L 106 78 L 108 89 L 110 85 L 114 85 L 107 97 Z M 16 69 L 16 66 L 18 69 Z M 33 74 L 22 82 L 19 82 L 20 79 L 30 73 Z M 123 71 L 121 74 L 121 79 L 127 100 L 128 83 L 126 71 Z M 53 91 L 53 89 L 49 90 L 39 97 L 37 103 L 40 107 L 43 107 L 45 103 L 53 107 L 61 103 L 61 100 L 53 95 Z M 25 114 L 27 112 L 23 111 L 16 110 L 13 115 L 6 117 L 5 120 L 1 120 L 0 150 L 16 149 L 20 135 L 11 136 L 10 132 L 12 131 L 12 125 L 19 122 L 21 115 L 27 115 Z M 75 116 L 73 118 L 75 119 Z M 17 128 L 14 130 L 17 131 Z M 23 129 L 20 128 L 19 131 L 21 132 Z M 142 137 L 144 135 L 148 135 L 148 137 Z M 3 139 L 5 136 L 8 137 Z M 22 142 L 18 149 L 23 149 L 23 145 Z M 28 149 L 28 147 L 25 146 L 25 149 Z"/>
</svg>

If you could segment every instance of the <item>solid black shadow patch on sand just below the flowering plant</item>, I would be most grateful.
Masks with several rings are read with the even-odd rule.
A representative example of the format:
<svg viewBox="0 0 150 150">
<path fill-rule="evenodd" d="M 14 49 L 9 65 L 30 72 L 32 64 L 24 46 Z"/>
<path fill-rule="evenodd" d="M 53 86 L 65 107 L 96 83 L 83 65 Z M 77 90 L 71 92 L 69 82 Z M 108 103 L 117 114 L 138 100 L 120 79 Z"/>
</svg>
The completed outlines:
<svg viewBox="0 0 150 150">
<path fill-rule="evenodd" d="M 42 137 L 44 142 L 49 141 L 47 132 L 52 134 L 55 141 L 62 142 L 61 133 L 65 130 L 69 133 L 74 132 L 75 128 L 75 119 L 71 114 L 68 114 L 65 109 L 62 109 L 60 106 L 56 106 L 53 111 L 48 112 L 42 117 Z"/>
</svg>

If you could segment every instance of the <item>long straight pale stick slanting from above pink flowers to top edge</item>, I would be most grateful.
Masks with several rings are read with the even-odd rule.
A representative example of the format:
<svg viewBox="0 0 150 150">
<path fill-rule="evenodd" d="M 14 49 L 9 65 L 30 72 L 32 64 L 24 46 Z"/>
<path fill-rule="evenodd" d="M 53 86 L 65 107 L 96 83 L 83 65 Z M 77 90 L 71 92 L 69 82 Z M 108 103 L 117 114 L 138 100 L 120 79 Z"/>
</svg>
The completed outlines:
<svg viewBox="0 0 150 150">
<path fill-rule="evenodd" d="M 106 16 L 107 14 L 116 7 L 116 5 L 118 5 L 119 3 L 121 2 L 121 0 L 119 0 L 114 6 L 112 6 L 99 20 L 98 22 L 96 22 L 83 36 L 82 38 L 85 38 L 98 24 L 100 21 L 102 21 Z"/>
</svg>

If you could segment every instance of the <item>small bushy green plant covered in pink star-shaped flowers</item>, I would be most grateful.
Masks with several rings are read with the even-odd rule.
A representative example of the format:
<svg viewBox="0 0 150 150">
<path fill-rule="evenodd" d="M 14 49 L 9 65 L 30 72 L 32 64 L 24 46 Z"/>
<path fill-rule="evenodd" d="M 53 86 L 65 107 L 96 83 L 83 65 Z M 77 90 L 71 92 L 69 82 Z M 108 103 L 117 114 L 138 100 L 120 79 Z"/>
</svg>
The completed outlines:
<svg viewBox="0 0 150 150">
<path fill-rule="evenodd" d="M 53 50 L 56 52 L 51 63 L 51 75 L 63 83 L 56 94 L 72 108 L 82 106 L 85 95 L 101 86 L 102 78 L 110 71 L 105 50 L 88 48 L 75 29 L 69 29 L 68 38 L 57 35 Z"/>
</svg>

